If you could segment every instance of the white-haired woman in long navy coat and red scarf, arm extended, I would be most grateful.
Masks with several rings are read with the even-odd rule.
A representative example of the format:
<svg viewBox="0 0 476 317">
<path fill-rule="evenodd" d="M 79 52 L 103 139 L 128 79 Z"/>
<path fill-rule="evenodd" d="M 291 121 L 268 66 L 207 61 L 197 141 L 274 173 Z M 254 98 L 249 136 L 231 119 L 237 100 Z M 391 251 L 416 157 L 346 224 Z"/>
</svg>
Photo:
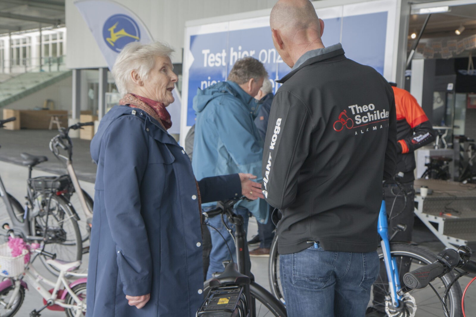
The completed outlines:
<svg viewBox="0 0 476 317">
<path fill-rule="evenodd" d="M 172 52 L 130 43 L 112 69 L 123 97 L 91 142 L 98 170 L 87 316 L 195 316 L 203 301 L 200 203 L 263 198 L 251 174 L 195 180 L 167 133 L 177 82 Z"/>
</svg>

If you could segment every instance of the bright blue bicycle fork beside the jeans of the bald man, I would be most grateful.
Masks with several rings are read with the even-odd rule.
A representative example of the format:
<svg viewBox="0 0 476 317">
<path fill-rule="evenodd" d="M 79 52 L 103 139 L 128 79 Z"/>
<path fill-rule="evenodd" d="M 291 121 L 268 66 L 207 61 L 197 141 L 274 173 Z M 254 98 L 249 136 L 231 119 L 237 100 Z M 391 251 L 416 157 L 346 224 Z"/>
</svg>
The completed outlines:
<svg viewBox="0 0 476 317">
<path fill-rule="evenodd" d="M 397 290 L 400 289 L 400 277 L 398 276 L 397 260 L 390 255 L 390 242 L 388 240 L 388 221 L 387 208 L 385 201 L 382 201 L 380 213 L 378 214 L 377 231 L 382 241 L 382 252 L 385 260 L 385 270 L 387 272 L 388 287 L 390 288 L 390 295 L 392 296 L 392 303 L 394 307 L 398 307 L 400 296 L 397 295 Z"/>
</svg>

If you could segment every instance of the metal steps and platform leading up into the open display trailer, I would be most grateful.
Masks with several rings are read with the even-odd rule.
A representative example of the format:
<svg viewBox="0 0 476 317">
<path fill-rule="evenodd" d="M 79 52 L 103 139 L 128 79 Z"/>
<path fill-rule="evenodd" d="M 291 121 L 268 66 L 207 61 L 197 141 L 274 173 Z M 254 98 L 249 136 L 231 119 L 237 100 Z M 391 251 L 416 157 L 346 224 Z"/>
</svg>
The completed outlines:
<svg viewBox="0 0 476 317">
<path fill-rule="evenodd" d="M 422 185 L 431 190 L 425 198 L 418 194 Z M 476 250 L 476 184 L 419 179 L 415 189 L 415 214 L 446 248 Z"/>
</svg>

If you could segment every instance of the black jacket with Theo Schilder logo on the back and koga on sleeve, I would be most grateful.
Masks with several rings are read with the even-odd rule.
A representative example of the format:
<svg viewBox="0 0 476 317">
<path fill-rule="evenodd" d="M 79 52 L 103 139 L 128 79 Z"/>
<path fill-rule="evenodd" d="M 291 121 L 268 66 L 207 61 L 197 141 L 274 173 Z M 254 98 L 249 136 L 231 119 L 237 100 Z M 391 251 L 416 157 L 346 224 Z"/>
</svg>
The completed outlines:
<svg viewBox="0 0 476 317">
<path fill-rule="evenodd" d="M 269 114 L 263 193 L 280 209 L 278 251 L 377 249 L 382 180 L 394 175 L 395 101 L 375 69 L 342 48 L 281 81 Z"/>
</svg>

